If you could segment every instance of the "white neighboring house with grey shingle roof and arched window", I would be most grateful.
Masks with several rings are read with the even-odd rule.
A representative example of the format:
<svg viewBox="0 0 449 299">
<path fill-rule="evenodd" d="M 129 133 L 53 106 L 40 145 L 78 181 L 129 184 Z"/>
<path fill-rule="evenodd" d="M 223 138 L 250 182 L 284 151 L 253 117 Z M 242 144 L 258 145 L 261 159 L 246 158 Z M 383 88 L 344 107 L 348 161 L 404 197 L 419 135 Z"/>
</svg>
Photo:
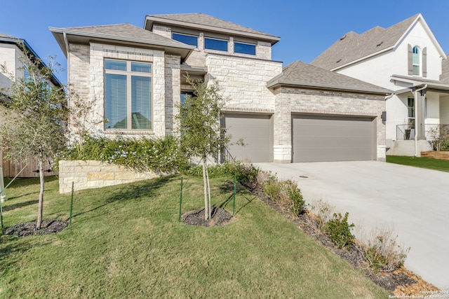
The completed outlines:
<svg viewBox="0 0 449 299">
<path fill-rule="evenodd" d="M 311 64 L 394 91 L 386 102 L 391 155 L 419 156 L 438 125 L 449 124 L 448 62 L 421 14 L 387 29 L 348 32 Z"/>
</svg>

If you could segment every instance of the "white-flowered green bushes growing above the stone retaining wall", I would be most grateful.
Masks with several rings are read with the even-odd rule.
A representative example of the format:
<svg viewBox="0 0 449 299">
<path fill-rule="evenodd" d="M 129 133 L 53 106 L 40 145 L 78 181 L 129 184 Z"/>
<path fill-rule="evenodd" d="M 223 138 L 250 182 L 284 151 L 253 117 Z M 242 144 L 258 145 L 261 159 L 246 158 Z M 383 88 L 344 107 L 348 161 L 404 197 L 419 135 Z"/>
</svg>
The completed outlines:
<svg viewBox="0 0 449 299">
<path fill-rule="evenodd" d="M 108 139 L 88 137 L 83 144 L 68 148 L 59 160 L 99 160 L 133 169 L 173 172 L 187 167 L 176 137 L 155 139 Z"/>
</svg>

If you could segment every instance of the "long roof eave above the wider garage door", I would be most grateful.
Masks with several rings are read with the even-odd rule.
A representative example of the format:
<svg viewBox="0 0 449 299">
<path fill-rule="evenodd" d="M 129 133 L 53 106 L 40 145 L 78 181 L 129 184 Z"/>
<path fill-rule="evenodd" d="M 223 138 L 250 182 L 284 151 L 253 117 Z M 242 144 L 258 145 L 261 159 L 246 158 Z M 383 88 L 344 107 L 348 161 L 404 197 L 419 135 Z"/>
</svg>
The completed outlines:
<svg viewBox="0 0 449 299">
<path fill-rule="evenodd" d="M 393 93 L 391 90 L 387 89 L 373 89 L 373 88 L 349 88 L 345 86 L 336 86 L 329 84 L 321 84 L 321 83 L 302 83 L 295 81 L 269 81 L 267 83 L 267 88 L 276 88 L 276 87 L 293 87 L 293 88 L 316 88 L 322 90 L 337 90 L 337 91 L 345 91 L 345 92 L 363 92 L 375 95 L 389 95 Z"/>
</svg>

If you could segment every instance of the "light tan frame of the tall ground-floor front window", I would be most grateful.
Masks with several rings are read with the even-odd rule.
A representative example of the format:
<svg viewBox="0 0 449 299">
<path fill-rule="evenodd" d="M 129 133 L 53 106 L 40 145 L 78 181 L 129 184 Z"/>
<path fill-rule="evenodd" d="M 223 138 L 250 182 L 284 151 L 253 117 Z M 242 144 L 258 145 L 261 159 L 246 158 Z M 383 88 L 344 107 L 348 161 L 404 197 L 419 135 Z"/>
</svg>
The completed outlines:
<svg viewBox="0 0 449 299">
<path fill-rule="evenodd" d="M 106 64 L 107 61 L 116 61 L 116 62 L 126 62 L 126 70 L 114 70 L 114 69 L 107 69 Z M 148 64 L 149 65 L 149 72 L 143 72 L 143 71 L 133 71 L 133 63 L 137 64 Z M 105 132 L 148 132 L 154 130 L 154 113 L 153 113 L 153 104 L 154 104 L 154 88 L 153 88 L 153 63 L 152 62 L 146 62 L 146 61 L 137 61 L 137 60 L 121 60 L 116 58 L 109 58 L 105 57 L 103 61 L 103 67 L 104 67 L 104 74 L 103 74 L 103 80 L 104 80 L 104 104 L 103 104 L 103 113 L 104 113 L 104 119 L 107 119 L 107 95 L 106 95 L 106 76 L 107 74 L 116 74 L 116 75 L 124 75 L 126 76 L 126 128 L 114 128 L 114 127 L 107 127 L 109 123 L 104 123 L 104 130 Z M 144 129 L 138 129 L 133 128 L 133 76 L 134 77 L 144 77 L 149 78 L 149 128 Z M 120 120 L 117 121 L 119 123 Z"/>
</svg>

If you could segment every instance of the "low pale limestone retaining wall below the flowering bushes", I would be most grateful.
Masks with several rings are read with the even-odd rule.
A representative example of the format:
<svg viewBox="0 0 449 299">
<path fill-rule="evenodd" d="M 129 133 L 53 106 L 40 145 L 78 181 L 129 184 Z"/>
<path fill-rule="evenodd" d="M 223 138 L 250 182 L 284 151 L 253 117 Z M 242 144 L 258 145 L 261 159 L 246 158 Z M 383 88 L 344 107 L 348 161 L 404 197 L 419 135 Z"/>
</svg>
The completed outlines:
<svg viewBox="0 0 449 299">
<path fill-rule="evenodd" d="M 83 190 L 154 179 L 158 176 L 155 172 L 135 172 L 133 169 L 100 161 L 60 161 L 59 192 L 70 193 L 72 182 L 74 190 Z"/>
</svg>

